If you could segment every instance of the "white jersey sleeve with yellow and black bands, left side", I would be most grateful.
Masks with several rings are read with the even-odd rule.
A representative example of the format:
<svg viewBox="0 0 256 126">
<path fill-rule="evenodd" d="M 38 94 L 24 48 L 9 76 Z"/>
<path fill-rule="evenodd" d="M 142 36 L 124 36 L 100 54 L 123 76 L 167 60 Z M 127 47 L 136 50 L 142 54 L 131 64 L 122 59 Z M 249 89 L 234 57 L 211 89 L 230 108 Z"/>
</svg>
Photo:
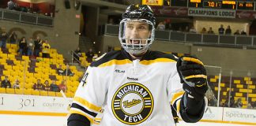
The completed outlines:
<svg viewBox="0 0 256 126">
<path fill-rule="evenodd" d="M 88 118 L 91 124 L 99 124 L 101 107 L 107 95 L 107 77 L 100 68 L 89 66 L 73 98 L 70 114 Z M 76 119 L 73 119 L 76 120 Z"/>
</svg>

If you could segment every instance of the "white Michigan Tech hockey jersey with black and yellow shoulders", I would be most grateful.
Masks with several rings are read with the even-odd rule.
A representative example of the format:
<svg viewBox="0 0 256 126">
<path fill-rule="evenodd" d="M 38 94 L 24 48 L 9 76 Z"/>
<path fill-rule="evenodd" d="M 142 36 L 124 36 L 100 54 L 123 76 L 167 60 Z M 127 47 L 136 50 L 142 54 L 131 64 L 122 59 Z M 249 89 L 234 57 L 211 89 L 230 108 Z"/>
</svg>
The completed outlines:
<svg viewBox="0 0 256 126">
<path fill-rule="evenodd" d="M 179 106 L 183 95 L 177 59 L 156 51 L 148 51 L 140 61 L 130 59 L 119 50 L 92 62 L 70 113 L 100 126 L 174 126 L 171 104 Z"/>
</svg>

